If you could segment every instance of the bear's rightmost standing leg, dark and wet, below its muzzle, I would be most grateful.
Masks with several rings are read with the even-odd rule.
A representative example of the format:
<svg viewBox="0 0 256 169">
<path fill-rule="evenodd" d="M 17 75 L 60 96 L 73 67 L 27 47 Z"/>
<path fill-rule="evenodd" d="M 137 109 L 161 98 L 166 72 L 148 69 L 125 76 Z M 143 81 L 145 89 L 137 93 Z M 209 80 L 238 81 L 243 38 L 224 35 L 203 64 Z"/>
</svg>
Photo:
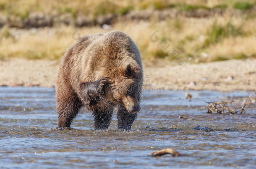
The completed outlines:
<svg viewBox="0 0 256 169">
<path fill-rule="evenodd" d="M 137 118 L 137 113 L 129 113 L 124 106 L 118 106 L 118 129 L 131 130 L 133 121 Z"/>
</svg>

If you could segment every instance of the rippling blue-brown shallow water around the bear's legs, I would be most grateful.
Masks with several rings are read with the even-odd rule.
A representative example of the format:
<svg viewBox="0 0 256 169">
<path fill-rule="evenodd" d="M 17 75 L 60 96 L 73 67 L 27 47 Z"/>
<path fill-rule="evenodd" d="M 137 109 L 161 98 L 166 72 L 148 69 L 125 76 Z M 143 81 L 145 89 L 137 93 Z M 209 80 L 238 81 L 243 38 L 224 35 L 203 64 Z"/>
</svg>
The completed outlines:
<svg viewBox="0 0 256 169">
<path fill-rule="evenodd" d="M 242 98 L 250 92 L 143 91 L 132 131 L 94 131 L 83 110 L 72 129 L 57 126 L 54 88 L 0 87 L 0 168 L 255 168 L 256 105 L 249 114 L 206 114 L 204 101 Z M 184 119 L 178 119 L 183 116 Z M 186 156 L 148 156 L 173 148 Z"/>
</svg>

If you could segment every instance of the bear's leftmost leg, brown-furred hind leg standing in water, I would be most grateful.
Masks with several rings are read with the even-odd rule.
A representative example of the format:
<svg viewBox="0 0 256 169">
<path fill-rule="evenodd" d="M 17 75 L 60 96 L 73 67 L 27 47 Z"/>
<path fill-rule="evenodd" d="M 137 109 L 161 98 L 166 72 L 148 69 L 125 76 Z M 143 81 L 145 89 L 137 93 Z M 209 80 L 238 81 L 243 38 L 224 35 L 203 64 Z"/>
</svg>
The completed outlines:
<svg viewBox="0 0 256 169">
<path fill-rule="evenodd" d="M 63 92 L 63 91 L 62 91 Z M 57 92 L 56 92 L 57 93 Z M 56 103 L 58 112 L 58 127 L 70 127 L 71 122 L 78 114 L 79 109 L 82 106 L 81 101 L 77 97 L 76 93 L 70 92 L 71 94 L 67 96 L 67 93 L 57 93 Z"/>
</svg>

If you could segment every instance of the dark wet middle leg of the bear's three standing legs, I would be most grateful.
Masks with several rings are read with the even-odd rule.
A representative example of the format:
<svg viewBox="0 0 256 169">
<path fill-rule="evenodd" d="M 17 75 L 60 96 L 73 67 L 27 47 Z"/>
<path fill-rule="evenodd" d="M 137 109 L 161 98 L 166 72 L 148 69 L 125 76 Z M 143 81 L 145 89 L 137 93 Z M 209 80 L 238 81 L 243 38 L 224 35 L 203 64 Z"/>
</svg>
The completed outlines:
<svg viewBox="0 0 256 169">
<path fill-rule="evenodd" d="M 108 111 L 94 110 L 94 128 L 95 130 L 107 129 L 112 119 L 113 110 Z"/>
</svg>

